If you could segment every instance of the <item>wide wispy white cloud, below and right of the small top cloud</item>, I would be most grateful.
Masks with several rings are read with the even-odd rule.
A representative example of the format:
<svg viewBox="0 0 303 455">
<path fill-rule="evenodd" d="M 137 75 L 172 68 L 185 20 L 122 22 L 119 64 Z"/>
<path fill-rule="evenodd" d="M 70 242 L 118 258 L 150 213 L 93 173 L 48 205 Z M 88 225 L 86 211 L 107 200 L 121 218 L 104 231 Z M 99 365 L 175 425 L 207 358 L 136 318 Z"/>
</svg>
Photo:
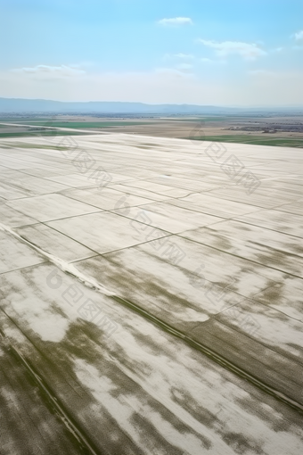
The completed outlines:
<svg viewBox="0 0 303 455">
<path fill-rule="evenodd" d="M 223 41 L 222 43 L 216 43 L 215 41 L 208 41 L 206 39 L 200 39 L 199 41 L 202 45 L 215 49 L 217 55 L 220 57 L 238 54 L 246 60 L 254 60 L 261 55 L 266 55 L 266 52 L 254 43 L 242 43 L 241 41 Z"/>
</svg>

